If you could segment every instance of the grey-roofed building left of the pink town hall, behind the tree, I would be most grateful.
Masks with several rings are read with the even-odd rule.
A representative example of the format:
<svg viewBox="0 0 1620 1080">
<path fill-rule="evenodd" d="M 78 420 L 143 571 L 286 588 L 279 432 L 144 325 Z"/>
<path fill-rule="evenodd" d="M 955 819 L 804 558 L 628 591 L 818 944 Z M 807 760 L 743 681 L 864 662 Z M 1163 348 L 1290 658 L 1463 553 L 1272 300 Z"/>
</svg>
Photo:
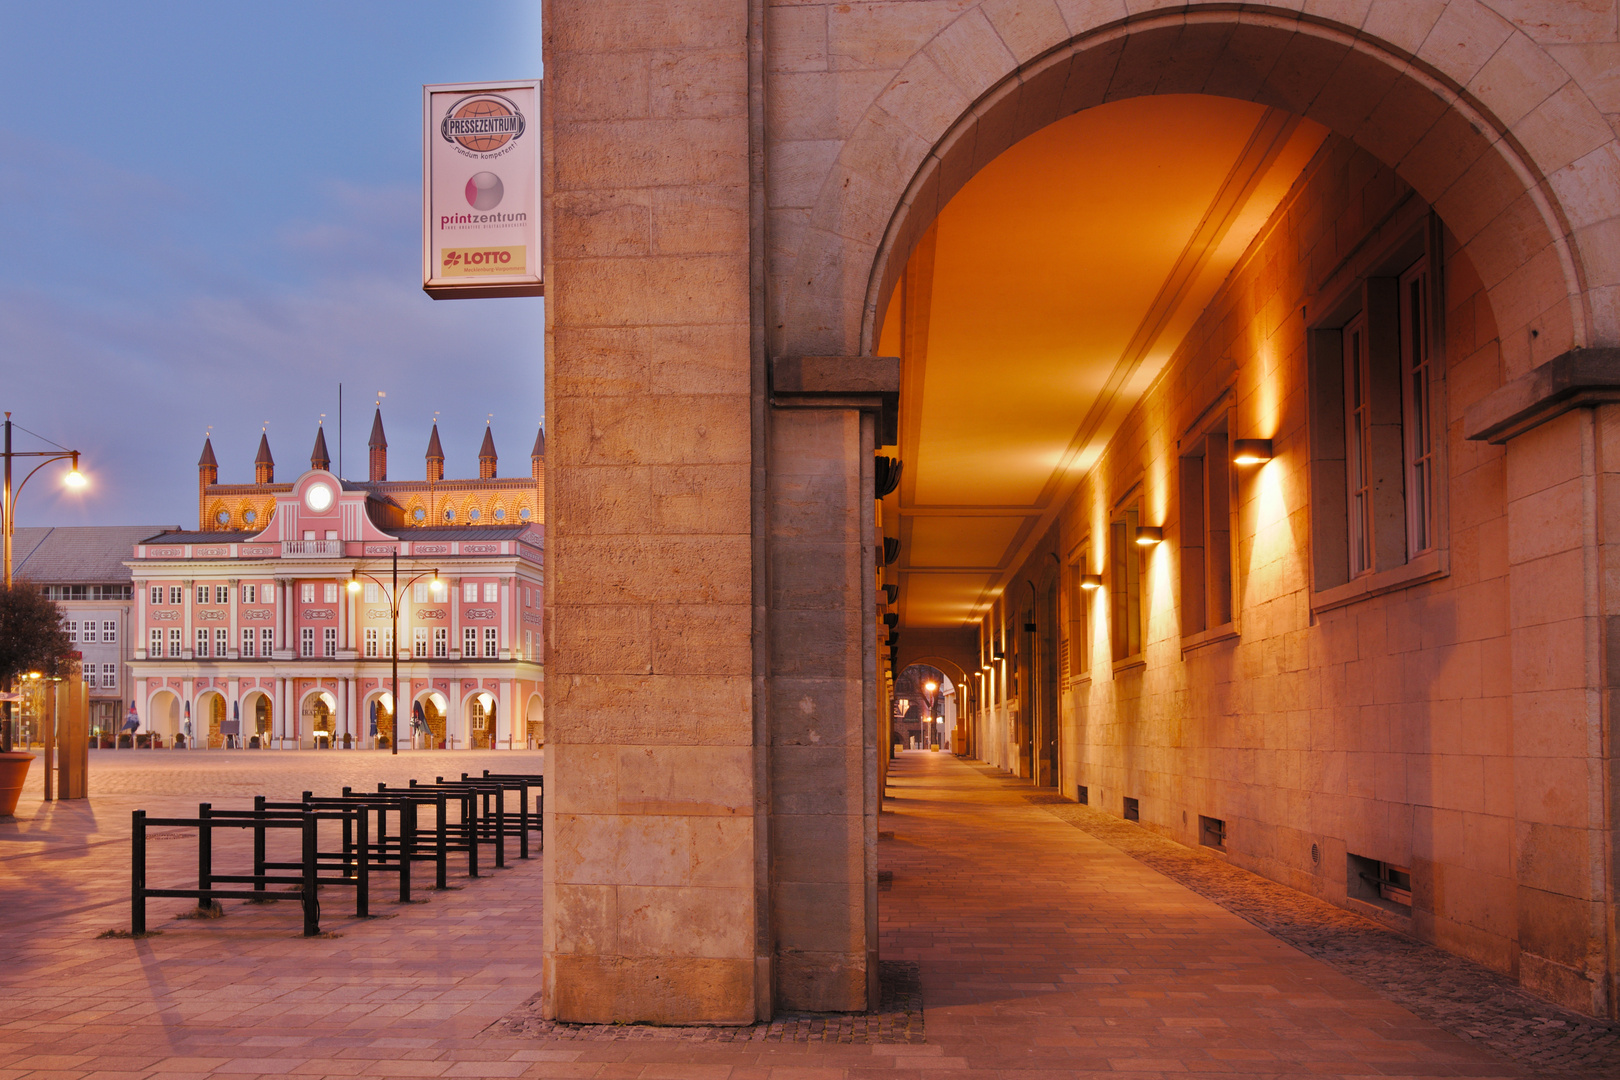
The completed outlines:
<svg viewBox="0 0 1620 1080">
<path fill-rule="evenodd" d="M 68 640 L 83 657 L 91 733 L 112 733 L 123 716 L 134 657 L 130 547 L 160 525 L 19 528 L 11 572 L 62 607 Z"/>
</svg>

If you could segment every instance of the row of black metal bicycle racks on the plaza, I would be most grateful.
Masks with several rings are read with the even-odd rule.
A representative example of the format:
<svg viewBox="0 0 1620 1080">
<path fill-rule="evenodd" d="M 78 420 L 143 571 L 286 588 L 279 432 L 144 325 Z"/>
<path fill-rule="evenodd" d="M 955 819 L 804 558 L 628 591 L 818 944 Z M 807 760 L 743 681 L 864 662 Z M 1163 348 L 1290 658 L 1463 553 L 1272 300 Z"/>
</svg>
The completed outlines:
<svg viewBox="0 0 1620 1080">
<path fill-rule="evenodd" d="M 530 810 L 530 792 L 535 806 Z M 517 808 L 509 806 L 512 797 Z M 298 900 L 303 933 L 321 933 L 322 887 L 353 889 L 355 915 L 371 915 L 371 876 L 395 874 L 400 904 L 411 899 L 411 866 L 431 863 L 434 887 L 447 887 L 449 860 L 467 857 L 467 876 L 478 876 L 480 848 L 494 848 L 494 865 L 505 866 L 507 842 L 515 840 L 518 858 L 528 858 L 530 832 L 544 844 L 541 814 L 546 805 L 544 779 L 538 774 L 491 772 L 460 780 L 436 777 L 433 784 L 411 780 L 408 787 L 377 784 L 377 790 L 345 787 L 337 797 L 305 792 L 300 801 L 253 800 L 253 810 L 214 810 L 198 805 L 196 818 L 149 818 L 136 810 L 131 844 L 130 933 L 146 934 L 149 897 L 191 897 L 199 913 L 217 910 L 219 900 Z M 424 818 L 431 814 L 431 821 Z M 151 889 L 146 884 L 146 831 L 198 831 L 198 887 Z M 253 873 L 214 871 L 214 832 L 253 832 Z M 301 857 L 296 861 L 269 857 L 267 839 L 275 831 L 296 832 Z M 248 886 L 248 887 L 243 887 Z M 285 886 L 292 886 L 287 889 Z"/>
</svg>

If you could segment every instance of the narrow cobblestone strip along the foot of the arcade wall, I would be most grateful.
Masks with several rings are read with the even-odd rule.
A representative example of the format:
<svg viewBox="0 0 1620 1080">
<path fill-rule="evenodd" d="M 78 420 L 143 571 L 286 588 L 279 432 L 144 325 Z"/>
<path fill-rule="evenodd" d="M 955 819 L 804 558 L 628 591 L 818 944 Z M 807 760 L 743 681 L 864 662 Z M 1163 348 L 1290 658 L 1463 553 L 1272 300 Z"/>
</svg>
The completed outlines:
<svg viewBox="0 0 1620 1080">
<path fill-rule="evenodd" d="M 998 771 L 982 771 L 1000 779 Z M 1029 790 L 1017 780 L 1003 782 Z M 1549 1004 L 1471 960 L 1134 823 L 1053 795 L 1025 798 L 1419 1017 L 1536 1075 L 1620 1077 L 1620 1023 Z"/>
</svg>

